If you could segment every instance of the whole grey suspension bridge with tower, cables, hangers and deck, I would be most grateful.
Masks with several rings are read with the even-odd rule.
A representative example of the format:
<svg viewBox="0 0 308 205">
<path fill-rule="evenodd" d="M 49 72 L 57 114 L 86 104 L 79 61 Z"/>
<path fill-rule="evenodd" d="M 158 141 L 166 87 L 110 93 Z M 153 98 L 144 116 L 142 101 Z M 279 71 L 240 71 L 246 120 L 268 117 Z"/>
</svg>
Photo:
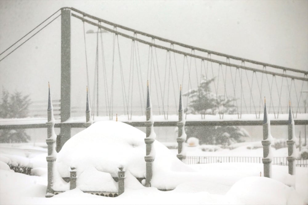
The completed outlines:
<svg viewBox="0 0 308 205">
<path fill-rule="evenodd" d="M 55 127 L 62 135 L 84 127 L 85 100 L 72 106 L 71 47 L 83 44 L 93 118 L 144 126 L 146 81 L 152 96 L 154 126 L 176 126 L 182 86 L 186 126 L 262 125 L 266 96 L 271 124 L 286 125 L 289 101 L 295 124 L 307 125 L 307 68 L 288 68 L 249 60 L 134 30 L 75 8 L 61 8 L 2 51 L 0 61 L 61 17 L 61 99 L 55 100 Z M 73 20 L 74 19 L 74 20 Z M 71 22 L 83 33 L 72 41 Z M 78 21 L 78 23 L 77 23 Z M 86 27 L 92 26 L 92 30 Z M 89 49 L 86 35 L 96 35 Z M 74 38 L 74 40 L 76 40 Z M 26 45 L 25 45 L 26 46 Z M 91 78 L 93 77 L 93 78 Z M 207 87 L 203 87 L 207 84 Z M 42 85 L 43 86 L 43 85 Z M 86 85 L 84 85 L 84 90 Z M 46 82 L 47 88 L 47 82 Z M 80 92 L 80 90 L 78 91 Z M 84 96 L 86 92 L 84 92 Z M 205 105 L 210 99 L 211 106 Z M 196 108 L 192 104 L 199 102 Z M 202 105 L 204 103 L 204 105 Z M 77 106 L 76 106 L 77 105 Z M 45 106 L 45 107 L 44 107 Z M 29 116 L 2 119 L 0 129 L 46 128 L 46 101 L 30 105 Z M 38 118 L 40 117 L 40 118 Z M 143 117 L 143 118 L 142 118 Z"/>
</svg>

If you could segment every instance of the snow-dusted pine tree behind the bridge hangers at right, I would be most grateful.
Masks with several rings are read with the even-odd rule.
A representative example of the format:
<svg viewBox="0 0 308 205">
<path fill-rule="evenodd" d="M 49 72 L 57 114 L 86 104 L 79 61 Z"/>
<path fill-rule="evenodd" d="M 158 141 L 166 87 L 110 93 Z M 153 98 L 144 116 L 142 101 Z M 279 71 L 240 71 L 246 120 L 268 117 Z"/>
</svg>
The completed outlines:
<svg viewBox="0 0 308 205">
<path fill-rule="evenodd" d="M 186 113 L 216 115 L 223 113 L 233 114 L 237 111 L 233 103 L 235 99 L 211 92 L 210 84 L 214 80 L 215 78 L 206 80 L 203 76 L 198 89 L 192 89 L 183 94 L 183 96 L 188 96 L 190 99 L 188 108 L 185 109 Z M 249 137 L 245 129 L 237 126 L 185 127 L 185 132 L 188 137 L 198 138 L 200 144 L 229 145 L 244 141 L 243 137 Z"/>
</svg>

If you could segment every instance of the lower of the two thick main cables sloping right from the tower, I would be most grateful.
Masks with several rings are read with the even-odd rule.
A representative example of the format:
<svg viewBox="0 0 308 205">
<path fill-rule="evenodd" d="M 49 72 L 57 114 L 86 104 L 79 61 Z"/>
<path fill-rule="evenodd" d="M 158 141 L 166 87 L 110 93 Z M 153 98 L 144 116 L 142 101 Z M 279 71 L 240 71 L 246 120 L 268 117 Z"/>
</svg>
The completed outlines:
<svg viewBox="0 0 308 205">
<path fill-rule="evenodd" d="M 75 18 L 79 18 L 80 20 L 82 20 L 83 18 L 76 15 L 76 14 L 72 14 L 73 17 Z M 133 39 L 135 41 L 139 41 L 140 43 L 144 43 L 144 44 L 147 44 L 147 45 L 150 45 L 150 46 L 153 46 L 153 47 L 156 47 L 156 48 L 160 48 L 160 49 L 164 49 L 164 50 L 168 50 L 168 51 L 171 51 L 171 52 L 174 52 L 174 53 L 179 53 L 179 54 L 182 54 L 182 55 L 185 55 L 185 56 L 190 56 L 190 57 L 195 57 L 195 58 L 199 58 L 199 59 L 203 59 L 203 60 L 206 60 L 206 61 L 210 61 L 210 62 L 213 62 L 213 63 L 217 63 L 217 64 L 221 64 L 221 65 L 227 65 L 227 66 L 230 66 L 230 67 L 234 67 L 234 68 L 241 68 L 241 69 L 247 69 L 247 70 L 251 70 L 251 71 L 256 71 L 256 72 L 260 72 L 260 73 L 266 73 L 266 74 L 271 74 L 271 75 L 277 75 L 277 76 L 282 76 L 282 77 L 288 77 L 288 78 L 291 78 L 291 79 L 297 79 L 297 80 L 301 80 L 301 81 L 308 81 L 308 78 L 306 77 L 297 77 L 297 76 L 292 76 L 292 75 L 286 75 L 286 74 L 282 74 L 282 73 L 276 73 L 276 72 L 271 72 L 271 71 L 265 71 L 265 70 L 260 70 L 260 69 L 256 69 L 256 68 L 251 68 L 251 67 L 247 67 L 247 66 L 243 66 L 243 65 L 237 65 L 237 64 L 232 64 L 232 63 L 226 63 L 226 62 L 223 62 L 223 61 L 218 61 L 218 60 L 214 60 L 214 59 L 211 59 L 211 58 L 207 58 L 207 57 L 203 57 L 203 56 L 198 56 L 198 55 L 195 55 L 195 54 L 191 54 L 191 53 L 186 53 L 186 52 L 183 52 L 183 51 L 179 51 L 179 50 L 176 50 L 176 49 L 171 49 L 171 48 L 168 48 L 168 47 L 165 47 L 165 46 L 162 46 L 162 45 L 157 45 L 157 44 L 154 44 L 154 43 L 150 43 L 148 41 L 144 41 L 142 39 L 139 39 L 139 38 L 136 38 L 136 37 L 132 37 L 132 36 L 129 36 L 127 34 L 124 34 L 124 33 L 121 33 L 121 32 L 118 32 L 118 31 L 115 31 L 115 30 L 112 30 L 112 29 L 109 29 L 105 26 L 101 26 L 95 22 L 91 22 L 89 20 L 86 20 L 86 19 L 83 19 L 83 21 L 93 25 L 93 26 L 98 26 L 100 28 L 103 28 L 104 30 L 107 30 L 109 32 L 112 32 L 112 33 L 115 33 L 115 34 L 118 34 L 118 35 L 121 35 L 123 37 L 126 37 L 126 38 L 130 38 L 130 39 Z M 248 61 L 247 61 L 248 62 Z"/>
</svg>

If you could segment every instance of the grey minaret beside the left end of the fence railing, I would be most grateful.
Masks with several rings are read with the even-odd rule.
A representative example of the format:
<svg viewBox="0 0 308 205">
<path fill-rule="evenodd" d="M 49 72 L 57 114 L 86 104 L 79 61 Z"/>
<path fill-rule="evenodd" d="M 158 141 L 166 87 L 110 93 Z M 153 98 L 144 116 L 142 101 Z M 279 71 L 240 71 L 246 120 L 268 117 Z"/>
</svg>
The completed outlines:
<svg viewBox="0 0 308 205">
<path fill-rule="evenodd" d="M 186 140 L 186 133 L 185 133 L 185 120 L 183 120 L 184 110 L 182 104 L 182 85 L 180 85 L 180 103 L 179 103 L 179 122 L 176 124 L 178 127 L 178 137 L 176 138 L 178 144 L 178 154 L 176 155 L 179 160 L 184 162 L 186 158 L 185 148 L 183 144 Z"/>
</svg>

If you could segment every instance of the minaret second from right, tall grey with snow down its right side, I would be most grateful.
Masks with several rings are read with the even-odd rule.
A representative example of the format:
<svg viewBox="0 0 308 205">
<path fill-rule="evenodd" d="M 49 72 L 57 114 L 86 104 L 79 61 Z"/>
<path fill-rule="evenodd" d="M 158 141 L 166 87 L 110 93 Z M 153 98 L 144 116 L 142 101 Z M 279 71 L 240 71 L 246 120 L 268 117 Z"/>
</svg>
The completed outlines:
<svg viewBox="0 0 308 205">
<path fill-rule="evenodd" d="M 271 178 L 272 176 L 272 136 L 270 134 L 270 119 L 268 118 L 268 113 L 266 109 L 266 100 L 264 97 L 264 116 L 263 116 L 263 175 L 265 177 Z"/>
</svg>

